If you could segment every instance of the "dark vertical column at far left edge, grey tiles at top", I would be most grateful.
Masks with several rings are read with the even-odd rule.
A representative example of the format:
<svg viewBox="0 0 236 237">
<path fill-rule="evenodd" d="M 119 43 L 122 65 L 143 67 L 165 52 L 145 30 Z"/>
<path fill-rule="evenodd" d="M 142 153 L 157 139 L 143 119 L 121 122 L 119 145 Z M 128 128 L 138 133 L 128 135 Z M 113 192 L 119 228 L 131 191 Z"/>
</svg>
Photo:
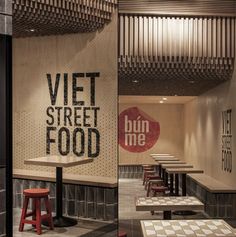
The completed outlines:
<svg viewBox="0 0 236 237">
<path fill-rule="evenodd" d="M 11 0 L 0 1 L 0 235 L 12 226 L 12 36 Z"/>
</svg>

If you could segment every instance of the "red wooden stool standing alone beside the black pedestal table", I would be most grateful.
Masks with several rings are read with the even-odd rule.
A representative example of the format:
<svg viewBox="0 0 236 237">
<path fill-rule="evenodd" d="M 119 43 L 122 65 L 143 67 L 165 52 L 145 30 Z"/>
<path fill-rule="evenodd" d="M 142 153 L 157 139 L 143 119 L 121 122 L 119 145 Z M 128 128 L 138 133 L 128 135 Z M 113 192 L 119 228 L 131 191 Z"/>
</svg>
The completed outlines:
<svg viewBox="0 0 236 237">
<path fill-rule="evenodd" d="M 42 188 L 32 188 L 24 190 L 24 204 L 21 213 L 21 220 L 19 231 L 22 232 L 24 229 L 24 224 L 32 224 L 36 227 L 37 234 L 40 235 L 42 233 L 41 222 L 43 220 L 47 220 L 50 226 L 50 229 L 53 230 L 53 220 L 52 220 L 52 211 L 51 205 L 48 198 L 49 189 Z M 33 210 L 27 213 L 27 208 L 29 204 L 29 199 L 33 199 Z M 45 207 L 47 214 L 41 215 L 41 198 L 44 199 Z M 26 218 L 32 216 L 32 220 L 27 220 Z"/>
</svg>

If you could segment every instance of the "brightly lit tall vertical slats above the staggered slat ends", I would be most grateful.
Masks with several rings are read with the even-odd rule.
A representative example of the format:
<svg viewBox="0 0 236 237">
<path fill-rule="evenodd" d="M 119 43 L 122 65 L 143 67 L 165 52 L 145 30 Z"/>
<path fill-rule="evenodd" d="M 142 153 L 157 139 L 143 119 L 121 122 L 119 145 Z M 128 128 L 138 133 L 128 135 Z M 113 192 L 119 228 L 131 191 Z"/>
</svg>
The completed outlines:
<svg viewBox="0 0 236 237">
<path fill-rule="evenodd" d="M 234 58 L 235 18 L 119 18 L 120 55 Z"/>
</svg>

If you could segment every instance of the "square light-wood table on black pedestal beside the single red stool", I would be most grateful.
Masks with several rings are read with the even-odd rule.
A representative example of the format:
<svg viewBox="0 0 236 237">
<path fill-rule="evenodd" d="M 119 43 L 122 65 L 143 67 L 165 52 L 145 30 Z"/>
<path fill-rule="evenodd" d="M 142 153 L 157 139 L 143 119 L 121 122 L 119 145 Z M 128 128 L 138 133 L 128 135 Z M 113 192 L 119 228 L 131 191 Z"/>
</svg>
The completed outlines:
<svg viewBox="0 0 236 237">
<path fill-rule="evenodd" d="M 93 162 L 93 158 L 74 156 L 45 156 L 24 160 L 26 165 L 56 167 L 56 216 L 53 217 L 55 227 L 69 227 L 77 224 L 77 220 L 63 216 L 63 168 L 83 165 Z M 43 223 L 47 225 L 47 223 Z"/>
</svg>

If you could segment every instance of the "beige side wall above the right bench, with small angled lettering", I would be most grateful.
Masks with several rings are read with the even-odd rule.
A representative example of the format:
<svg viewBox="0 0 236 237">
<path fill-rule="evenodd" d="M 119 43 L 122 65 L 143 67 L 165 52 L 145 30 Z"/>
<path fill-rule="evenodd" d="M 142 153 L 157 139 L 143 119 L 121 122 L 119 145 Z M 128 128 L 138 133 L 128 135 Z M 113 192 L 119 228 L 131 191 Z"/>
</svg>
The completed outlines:
<svg viewBox="0 0 236 237">
<path fill-rule="evenodd" d="M 185 159 L 201 168 L 207 175 L 213 176 L 225 184 L 236 188 L 236 144 L 235 109 L 236 75 L 229 82 L 199 96 L 185 105 Z M 232 109 L 232 173 L 221 168 L 221 112 Z"/>
</svg>

